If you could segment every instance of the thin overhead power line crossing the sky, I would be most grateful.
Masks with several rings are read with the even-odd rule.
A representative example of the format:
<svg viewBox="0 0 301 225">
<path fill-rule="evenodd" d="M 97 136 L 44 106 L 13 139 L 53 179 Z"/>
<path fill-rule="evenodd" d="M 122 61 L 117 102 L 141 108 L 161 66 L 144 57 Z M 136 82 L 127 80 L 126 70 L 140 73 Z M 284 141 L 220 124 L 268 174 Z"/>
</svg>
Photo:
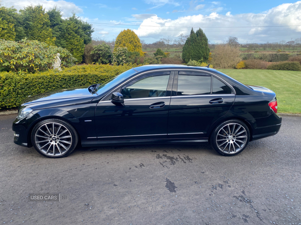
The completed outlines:
<svg viewBox="0 0 301 225">
<path fill-rule="evenodd" d="M 117 25 L 126 25 L 126 26 L 154 26 L 154 27 L 196 27 L 199 25 L 193 25 L 193 26 L 166 26 L 166 25 L 138 25 L 138 24 L 125 24 L 125 23 L 105 23 L 105 22 L 91 22 L 92 24 L 108 24 L 112 26 Z M 202 28 L 254 28 L 254 27 L 288 27 L 288 26 L 301 26 L 301 25 L 276 25 L 276 26 L 200 26 Z"/>
</svg>

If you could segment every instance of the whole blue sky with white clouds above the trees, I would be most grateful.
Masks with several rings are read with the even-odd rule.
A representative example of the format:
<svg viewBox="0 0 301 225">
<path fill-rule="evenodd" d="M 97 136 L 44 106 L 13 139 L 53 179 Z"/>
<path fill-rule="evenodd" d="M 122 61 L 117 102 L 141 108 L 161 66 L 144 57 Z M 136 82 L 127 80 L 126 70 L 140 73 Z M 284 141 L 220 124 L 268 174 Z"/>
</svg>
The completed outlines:
<svg viewBox="0 0 301 225">
<path fill-rule="evenodd" d="M 22 9 L 42 4 L 60 7 L 64 17 L 75 12 L 92 24 L 93 38 L 112 40 L 132 29 L 146 43 L 176 39 L 202 28 L 210 43 L 235 36 L 240 43 L 266 43 L 301 38 L 301 1 L 280 0 L 0 0 Z"/>
</svg>

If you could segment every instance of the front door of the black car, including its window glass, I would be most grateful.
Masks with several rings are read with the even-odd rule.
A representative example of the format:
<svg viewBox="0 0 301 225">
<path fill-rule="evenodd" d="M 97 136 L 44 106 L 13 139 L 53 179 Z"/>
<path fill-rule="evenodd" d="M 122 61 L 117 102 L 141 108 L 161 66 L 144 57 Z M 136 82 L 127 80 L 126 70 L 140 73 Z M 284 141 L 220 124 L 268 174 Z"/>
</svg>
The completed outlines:
<svg viewBox="0 0 301 225">
<path fill-rule="evenodd" d="M 173 72 L 148 73 L 114 90 L 123 94 L 124 105 L 108 99 L 97 104 L 97 139 L 166 138 L 172 82 Z"/>
</svg>

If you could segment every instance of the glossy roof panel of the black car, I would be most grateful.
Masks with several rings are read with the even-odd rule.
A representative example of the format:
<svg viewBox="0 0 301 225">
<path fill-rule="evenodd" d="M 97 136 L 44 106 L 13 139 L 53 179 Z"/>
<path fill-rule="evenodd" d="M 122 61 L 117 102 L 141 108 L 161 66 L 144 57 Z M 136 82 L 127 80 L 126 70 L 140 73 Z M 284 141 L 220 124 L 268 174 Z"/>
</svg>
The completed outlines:
<svg viewBox="0 0 301 225">
<path fill-rule="evenodd" d="M 178 64 L 153 64 L 153 65 L 142 65 L 139 67 L 134 67 L 133 69 L 137 72 L 154 70 L 154 69 L 200 69 L 203 71 L 216 71 L 213 68 L 207 68 L 205 66 L 188 66 L 188 65 L 178 65 Z"/>
</svg>

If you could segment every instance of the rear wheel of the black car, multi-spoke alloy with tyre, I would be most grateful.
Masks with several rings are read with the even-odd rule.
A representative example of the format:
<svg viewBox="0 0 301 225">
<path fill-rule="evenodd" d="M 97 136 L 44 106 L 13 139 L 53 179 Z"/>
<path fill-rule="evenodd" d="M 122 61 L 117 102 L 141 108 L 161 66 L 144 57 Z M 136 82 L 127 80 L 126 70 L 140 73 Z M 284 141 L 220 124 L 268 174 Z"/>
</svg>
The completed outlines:
<svg viewBox="0 0 301 225">
<path fill-rule="evenodd" d="M 222 122 L 210 136 L 211 146 L 220 154 L 232 156 L 242 152 L 250 140 L 250 131 L 238 119 Z"/>
</svg>

